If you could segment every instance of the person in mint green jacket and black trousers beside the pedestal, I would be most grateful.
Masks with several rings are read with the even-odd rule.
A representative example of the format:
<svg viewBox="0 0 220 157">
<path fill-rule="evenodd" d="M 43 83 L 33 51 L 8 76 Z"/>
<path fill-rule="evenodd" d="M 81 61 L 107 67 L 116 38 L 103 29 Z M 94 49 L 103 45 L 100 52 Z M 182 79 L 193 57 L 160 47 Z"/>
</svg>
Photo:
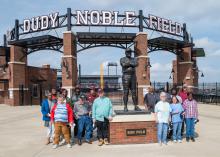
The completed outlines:
<svg viewBox="0 0 220 157">
<path fill-rule="evenodd" d="M 97 126 L 98 145 L 108 144 L 109 121 L 112 120 L 112 103 L 104 95 L 103 89 L 98 90 L 99 97 L 95 99 L 92 106 L 93 123 Z"/>
</svg>

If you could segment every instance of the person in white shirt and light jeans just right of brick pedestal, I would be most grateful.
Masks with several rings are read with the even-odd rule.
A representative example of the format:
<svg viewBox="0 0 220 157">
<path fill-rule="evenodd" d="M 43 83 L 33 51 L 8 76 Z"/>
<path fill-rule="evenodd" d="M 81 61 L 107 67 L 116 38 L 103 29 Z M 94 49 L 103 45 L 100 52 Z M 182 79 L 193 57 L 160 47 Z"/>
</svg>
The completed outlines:
<svg viewBox="0 0 220 157">
<path fill-rule="evenodd" d="M 160 101 L 155 106 L 155 118 L 157 122 L 157 139 L 161 146 L 162 143 L 167 145 L 167 131 L 172 111 L 170 104 L 166 102 L 166 93 L 160 93 Z"/>
</svg>

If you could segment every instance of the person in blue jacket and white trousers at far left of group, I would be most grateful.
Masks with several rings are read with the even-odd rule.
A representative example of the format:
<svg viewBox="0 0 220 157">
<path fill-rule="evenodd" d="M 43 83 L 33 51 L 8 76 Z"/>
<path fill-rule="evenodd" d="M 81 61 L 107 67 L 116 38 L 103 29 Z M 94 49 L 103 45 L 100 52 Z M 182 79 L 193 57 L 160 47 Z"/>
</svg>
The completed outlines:
<svg viewBox="0 0 220 157">
<path fill-rule="evenodd" d="M 43 115 L 44 126 L 47 128 L 47 141 L 46 145 L 53 140 L 54 126 L 50 122 L 50 112 L 53 108 L 54 103 L 52 102 L 52 94 L 47 94 L 47 99 L 44 99 L 41 104 L 41 113 Z"/>
</svg>

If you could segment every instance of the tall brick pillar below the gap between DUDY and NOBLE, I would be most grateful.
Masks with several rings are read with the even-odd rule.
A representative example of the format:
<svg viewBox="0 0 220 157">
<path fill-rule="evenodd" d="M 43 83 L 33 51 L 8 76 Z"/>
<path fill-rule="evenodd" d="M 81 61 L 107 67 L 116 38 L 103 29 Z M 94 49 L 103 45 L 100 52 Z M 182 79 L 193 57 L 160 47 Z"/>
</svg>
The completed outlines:
<svg viewBox="0 0 220 157">
<path fill-rule="evenodd" d="M 68 90 L 68 96 L 72 96 L 72 90 L 77 83 L 77 54 L 76 36 L 67 31 L 63 33 L 63 57 L 62 57 L 62 88 Z"/>
</svg>

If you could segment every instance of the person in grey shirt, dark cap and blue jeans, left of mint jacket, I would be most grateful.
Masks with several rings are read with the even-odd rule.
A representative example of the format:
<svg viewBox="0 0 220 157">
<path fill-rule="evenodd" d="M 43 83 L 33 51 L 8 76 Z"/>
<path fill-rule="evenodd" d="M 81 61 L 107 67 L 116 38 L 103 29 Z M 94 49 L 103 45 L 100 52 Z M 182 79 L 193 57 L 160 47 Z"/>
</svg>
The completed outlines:
<svg viewBox="0 0 220 157">
<path fill-rule="evenodd" d="M 75 118 L 77 119 L 77 138 L 78 144 L 82 145 L 82 133 L 84 128 L 86 129 L 85 139 L 86 142 L 92 144 L 91 141 L 91 130 L 92 130 L 92 123 L 91 117 L 89 113 L 91 111 L 91 106 L 89 102 L 86 101 L 86 96 L 81 94 L 79 100 L 74 104 L 74 114 Z"/>
</svg>

